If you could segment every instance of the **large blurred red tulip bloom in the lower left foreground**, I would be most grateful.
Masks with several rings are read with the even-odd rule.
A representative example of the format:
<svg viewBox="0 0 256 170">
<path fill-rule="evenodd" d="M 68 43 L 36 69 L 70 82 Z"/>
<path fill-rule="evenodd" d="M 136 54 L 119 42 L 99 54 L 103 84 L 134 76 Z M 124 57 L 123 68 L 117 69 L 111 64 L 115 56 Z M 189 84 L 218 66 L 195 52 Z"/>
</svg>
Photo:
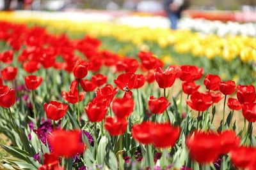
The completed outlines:
<svg viewBox="0 0 256 170">
<path fill-rule="evenodd" d="M 74 157 L 77 153 L 83 153 L 85 148 L 80 131 L 54 131 L 49 135 L 48 141 L 52 151 L 61 157 Z"/>
</svg>

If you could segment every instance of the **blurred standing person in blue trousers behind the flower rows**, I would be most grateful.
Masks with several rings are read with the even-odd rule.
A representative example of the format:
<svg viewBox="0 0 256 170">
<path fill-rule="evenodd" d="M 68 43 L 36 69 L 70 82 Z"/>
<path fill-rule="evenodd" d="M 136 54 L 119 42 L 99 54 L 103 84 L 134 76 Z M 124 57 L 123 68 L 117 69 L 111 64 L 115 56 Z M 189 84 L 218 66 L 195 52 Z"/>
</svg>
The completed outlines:
<svg viewBox="0 0 256 170">
<path fill-rule="evenodd" d="M 168 14 L 172 29 L 177 29 L 181 13 L 188 7 L 188 3 L 188 0 L 164 0 L 164 10 Z"/>
</svg>

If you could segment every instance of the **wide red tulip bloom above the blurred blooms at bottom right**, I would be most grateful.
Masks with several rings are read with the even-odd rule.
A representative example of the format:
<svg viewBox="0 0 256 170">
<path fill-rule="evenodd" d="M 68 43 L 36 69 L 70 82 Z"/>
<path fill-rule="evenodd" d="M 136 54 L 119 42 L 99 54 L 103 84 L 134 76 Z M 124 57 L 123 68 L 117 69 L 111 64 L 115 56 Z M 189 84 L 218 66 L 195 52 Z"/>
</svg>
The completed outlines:
<svg viewBox="0 0 256 170">
<path fill-rule="evenodd" d="M 212 105 L 213 101 L 210 94 L 195 92 L 187 103 L 193 110 L 205 111 Z"/>
</svg>

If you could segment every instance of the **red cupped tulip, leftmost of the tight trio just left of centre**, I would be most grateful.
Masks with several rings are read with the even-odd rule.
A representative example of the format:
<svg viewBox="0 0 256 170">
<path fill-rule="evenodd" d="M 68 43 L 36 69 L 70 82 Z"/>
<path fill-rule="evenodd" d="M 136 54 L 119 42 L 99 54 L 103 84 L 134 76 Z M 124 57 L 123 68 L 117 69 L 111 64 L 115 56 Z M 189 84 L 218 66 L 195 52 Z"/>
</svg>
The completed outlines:
<svg viewBox="0 0 256 170">
<path fill-rule="evenodd" d="M 108 106 L 104 103 L 88 103 L 84 108 L 90 122 L 101 122 L 107 114 Z"/>
</svg>

